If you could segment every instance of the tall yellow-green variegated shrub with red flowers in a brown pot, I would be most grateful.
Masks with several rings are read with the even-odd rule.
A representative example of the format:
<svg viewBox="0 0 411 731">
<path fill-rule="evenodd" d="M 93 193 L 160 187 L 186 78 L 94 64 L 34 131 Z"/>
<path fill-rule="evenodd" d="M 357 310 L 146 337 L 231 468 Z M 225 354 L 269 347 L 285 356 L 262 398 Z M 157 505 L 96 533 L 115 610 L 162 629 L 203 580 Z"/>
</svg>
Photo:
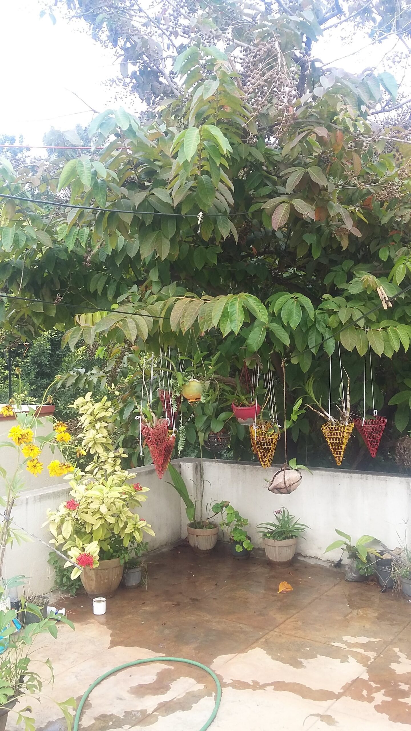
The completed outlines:
<svg viewBox="0 0 411 731">
<path fill-rule="evenodd" d="M 108 598 L 121 582 L 128 550 L 143 541 L 143 532 L 154 535 L 133 512 L 146 500 L 148 488 L 130 484 L 130 473 L 121 467 L 127 455 L 113 448 L 114 409 L 107 397 L 95 404 L 88 393 L 73 406 L 81 414 L 83 450 L 94 457 L 85 471 L 75 469 L 69 500 L 48 511 L 51 543 L 62 545 L 75 561 L 71 577 L 80 576 L 89 596 Z"/>
</svg>

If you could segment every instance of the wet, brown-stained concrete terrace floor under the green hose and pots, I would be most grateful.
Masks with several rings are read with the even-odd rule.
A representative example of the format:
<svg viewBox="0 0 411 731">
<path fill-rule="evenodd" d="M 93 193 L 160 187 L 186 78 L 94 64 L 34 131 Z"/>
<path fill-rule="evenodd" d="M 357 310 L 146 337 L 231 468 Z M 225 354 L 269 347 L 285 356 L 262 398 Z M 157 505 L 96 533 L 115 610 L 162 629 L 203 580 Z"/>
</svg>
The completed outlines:
<svg viewBox="0 0 411 731">
<path fill-rule="evenodd" d="M 118 664 L 150 656 L 195 659 L 222 683 L 211 731 L 409 730 L 411 605 L 351 584 L 327 564 L 297 560 L 287 569 L 263 556 L 235 561 L 227 546 L 206 558 L 181 546 L 152 555 L 145 588 L 121 589 L 105 616 L 86 596 L 66 600 L 75 632 L 41 637 L 50 657 L 50 695 L 80 700 Z M 279 582 L 293 591 L 277 594 Z M 86 703 L 87 731 L 199 731 L 213 708 L 206 673 L 170 663 L 124 670 Z M 65 729 L 50 700 L 33 706 L 38 731 Z M 14 730 L 10 718 L 7 731 Z"/>
</svg>

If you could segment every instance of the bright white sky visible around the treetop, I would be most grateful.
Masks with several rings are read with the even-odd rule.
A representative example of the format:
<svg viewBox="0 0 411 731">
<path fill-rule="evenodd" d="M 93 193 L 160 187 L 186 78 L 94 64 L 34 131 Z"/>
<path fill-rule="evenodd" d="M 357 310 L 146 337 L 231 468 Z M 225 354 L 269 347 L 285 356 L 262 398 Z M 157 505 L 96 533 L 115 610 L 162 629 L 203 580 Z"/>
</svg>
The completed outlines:
<svg viewBox="0 0 411 731">
<path fill-rule="evenodd" d="M 0 61 L 7 72 L 1 75 L 4 101 L 0 133 L 21 134 L 29 145 L 42 145 L 42 136 L 51 126 L 63 131 L 73 129 L 75 124 L 86 126 L 92 113 L 72 91 L 101 111 L 111 103 L 112 92 L 105 81 L 118 75 L 115 53 L 94 42 L 85 23 L 67 23 L 56 14 L 53 25 L 48 15 L 39 18 L 41 7 L 39 0 L 14 0 L 1 7 Z M 355 40 L 347 42 L 341 31 L 336 28 L 332 37 L 328 34 L 326 41 L 321 39 L 314 51 L 316 56 L 328 63 L 369 44 L 366 34 L 356 32 Z M 358 73 L 379 64 L 377 71 L 382 71 L 386 65 L 380 61 L 395 42 L 388 39 L 374 48 L 364 48 L 335 65 Z M 403 50 L 401 45 L 397 49 Z M 400 63 L 386 70 L 401 80 L 403 69 Z M 410 78 L 411 72 L 407 76 Z M 130 110 L 137 112 L 140 100 L 137 96 L 133 99 L 135 108 Z"/>
</svg>

